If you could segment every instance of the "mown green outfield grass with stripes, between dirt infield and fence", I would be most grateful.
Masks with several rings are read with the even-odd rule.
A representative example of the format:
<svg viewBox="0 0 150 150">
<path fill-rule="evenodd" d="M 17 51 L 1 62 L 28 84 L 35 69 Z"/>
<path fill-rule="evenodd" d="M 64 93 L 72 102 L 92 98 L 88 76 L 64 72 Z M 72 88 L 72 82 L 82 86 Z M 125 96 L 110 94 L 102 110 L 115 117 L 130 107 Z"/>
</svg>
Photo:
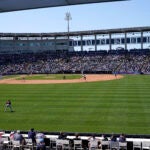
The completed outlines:
<svg viewBox="0 0 150 150">
<path fill-rule="evenodd" d="M 4 112 L 7 99 L 15 112 Z M 0 129 L 150 134 L 150 76 L 74 84 L 0 85 Z"/>
</svg>

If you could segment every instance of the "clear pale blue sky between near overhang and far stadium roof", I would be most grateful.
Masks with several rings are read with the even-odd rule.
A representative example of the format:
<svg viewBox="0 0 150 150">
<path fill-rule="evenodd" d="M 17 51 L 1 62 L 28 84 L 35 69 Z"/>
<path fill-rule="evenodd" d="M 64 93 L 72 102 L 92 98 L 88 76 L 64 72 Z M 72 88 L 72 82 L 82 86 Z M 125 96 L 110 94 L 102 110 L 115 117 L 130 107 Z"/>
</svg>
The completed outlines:
<svg viewBox="0 0 150 150">
<path fill-rule="evenodd" d="M 150 26 L 150 0 L 96 3 L 0 13 L 0 32 L 66 32 Z"/>
</svg>

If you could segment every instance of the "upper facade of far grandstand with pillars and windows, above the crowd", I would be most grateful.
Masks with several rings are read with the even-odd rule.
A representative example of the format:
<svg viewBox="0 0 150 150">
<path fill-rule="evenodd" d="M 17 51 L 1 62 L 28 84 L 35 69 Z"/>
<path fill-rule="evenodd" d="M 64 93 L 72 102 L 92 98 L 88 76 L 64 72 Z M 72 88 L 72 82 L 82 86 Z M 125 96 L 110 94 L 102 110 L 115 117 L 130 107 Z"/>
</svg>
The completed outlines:
<svg viewBox="0 0 150 150">
<path fill-rule="evenodd" d="M 133 46 L 133 47 L 132 47 Z M 0 53 L 98 51 L 150 47 L 150 27 L 60 33 L 0 33 Z"/>
</svg>

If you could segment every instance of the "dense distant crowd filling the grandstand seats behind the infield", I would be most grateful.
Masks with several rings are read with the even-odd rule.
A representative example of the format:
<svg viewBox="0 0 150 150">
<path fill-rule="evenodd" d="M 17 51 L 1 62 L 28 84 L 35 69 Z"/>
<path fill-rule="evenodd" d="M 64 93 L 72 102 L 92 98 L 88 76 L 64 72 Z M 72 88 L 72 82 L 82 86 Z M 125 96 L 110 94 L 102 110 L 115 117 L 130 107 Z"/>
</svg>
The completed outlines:
<svg viewBox="0 0 150 150">
<path fill-rule="evenodd" d="M 1 75 L 83 71 L 150 74 L 150 53 L 130 51 L 100 53 L 100 51 L 95 51 L 0 55 Z"/>
</svg>

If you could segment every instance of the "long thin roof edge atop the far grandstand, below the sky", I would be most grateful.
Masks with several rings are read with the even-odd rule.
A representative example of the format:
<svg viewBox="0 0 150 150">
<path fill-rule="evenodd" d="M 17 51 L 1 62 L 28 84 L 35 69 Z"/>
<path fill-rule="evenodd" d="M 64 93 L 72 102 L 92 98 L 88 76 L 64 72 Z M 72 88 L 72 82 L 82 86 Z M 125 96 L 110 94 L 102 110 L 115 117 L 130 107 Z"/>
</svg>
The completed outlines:
<svg viewBox="0 0 150 150">
<path fill-rule="evenodd" d="M 105 34 L 121 34 L 121 33 L 139 33 L 150 32 L 148 27 L 133 27 L 133 28 L 118 28 L 105 30 L 91 30 L 91 31 L 74 31 L 69 32 L 69 36 L 84 36 L 84 35 L 105 35 Z M 68 36 L 68 32 L 55 33 L 0 33 L 0 37 L 64 37 Z"/>
</svg>

